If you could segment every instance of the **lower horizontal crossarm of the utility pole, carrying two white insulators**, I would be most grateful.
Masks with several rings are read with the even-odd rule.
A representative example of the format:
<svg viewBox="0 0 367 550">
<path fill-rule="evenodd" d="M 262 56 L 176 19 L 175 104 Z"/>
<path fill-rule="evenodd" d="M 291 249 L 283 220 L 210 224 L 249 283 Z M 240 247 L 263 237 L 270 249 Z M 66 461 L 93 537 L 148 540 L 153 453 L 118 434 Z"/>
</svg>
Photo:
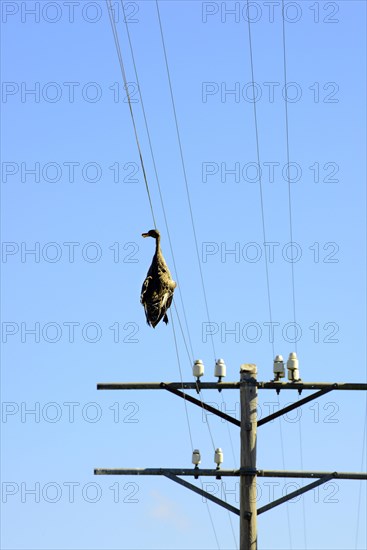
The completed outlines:
<svg viewBox="0 0 367 550">
<path fill-rule="evenodd" d="M 286 477 L 286 478 L 324 478 L 331 476 L 334 479 L 359 479 L 367 480 L 366 472 L 307 472 L 307 471 L 289 471 L 289 470 L 253 470 L 251 468 L 239 468 L 236 470 L 214 470 L 201 468 L 95 468 L 95 475 L 112 476 L 166 476 L 167 474 L 175 476 L 203 476 L 203 477 L 239 477 L 253 476 L 258 477 Z"/>
</svg>

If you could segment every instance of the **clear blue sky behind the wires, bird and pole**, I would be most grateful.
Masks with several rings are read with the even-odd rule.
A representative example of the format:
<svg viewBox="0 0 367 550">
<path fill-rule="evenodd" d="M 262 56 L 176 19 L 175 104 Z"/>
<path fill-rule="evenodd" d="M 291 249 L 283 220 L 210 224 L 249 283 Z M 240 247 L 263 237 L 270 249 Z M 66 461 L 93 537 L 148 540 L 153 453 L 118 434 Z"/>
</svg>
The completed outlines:
<svg viewBox="0 0 367 550">
<path fill-rule="evenodd" d="M 121 5 L 113 4 L 163 252 L 204 379 L 214 379 L 211 327 L 227 380 L 238 380 L 245 362 L 270 380 L 273 352 L 287 358 L 297 345 L 304 381 L 364 381 L 365 2 L 286 2 L 296 344 L 280 2 L 251 2 L 264 224 L 275 243 L 266 247 L 245 4 L 160 2 L 210 327 L 155 2 L 126 9 L 177 272 Z M 3 0 L 1 10 L 2 546 L 217 548 L 201 497 L 163 478 L 93 475 L 95 467 L 189 467 L 192 452 L 174 396 L 96 390 L 102 381 L 180 379 L 172 323 L 152 330 L 139 304 L 154 245 L 140 235 L 153 223 L 106 4 Z M 176 304 L 187 339 L 178 290 Z M 235 391 L 203 397 L 238 417 Z M 260 391 L 259 414 L 292 399 Z M 335 392 L 303 407 L 301 418 L 264 426 L 258 467 L 365 469 L 365 410 L 361 393 Z M 201 411 L 188 413 L 193 445 L 211 467 Z M 230 440 L 220 419 L 209 424 L 223 467 L 238 467 L 237 428 Z M 235 480 L 211 483 L 238 505 Z M 283 480 L 259 487 L 259 506 L 292 490 Z M 235 548 L 227 512 L 209 508 L 220 548 Z M 365 514 L 365 483 L 332 482 L 263 514 L 259 550 L 364 549 Z"/>
</svg>

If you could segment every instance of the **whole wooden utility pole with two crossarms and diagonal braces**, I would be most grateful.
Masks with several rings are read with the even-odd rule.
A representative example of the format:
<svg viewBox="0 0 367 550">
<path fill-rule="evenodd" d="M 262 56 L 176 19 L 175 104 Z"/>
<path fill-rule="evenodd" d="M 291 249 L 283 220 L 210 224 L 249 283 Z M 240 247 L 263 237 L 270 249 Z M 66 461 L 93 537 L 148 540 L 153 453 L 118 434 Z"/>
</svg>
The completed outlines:
<svg viewBox="0 0 367 550">
<path fill-rule="evenodd" d="M 288 367 L 289 368 L 289 367 Z M 294 367 L 293 367 L 294 368 Z M 274 370 L 274 372 L 279 372 Z M 240 381 L 238 382 L 107 382 L 97 384 L 98 390 L 166 390 L 168 393 L 185 399 L 187 402 L 197 405 L 208 412 L 225 419 L 227 422 L 240 427 L 241 438 L 241 463 L 237 470 L 222 469 L 201 469 L 195 468 L 96 468 L 95 475 L 125 475 L 125 476 L 164 476 L 186 489 L 190 489 L 201 497 L 204 497 L 215 504 L 225 508 L 239 516 L 240 519 L 240 546 L 239 550 L 257 550 L 257 516 L 268 512 L 272 508 L 287 502 L 299 495 L 306 493 L 331 479 L 367 480 L 367 473 L 364 472 L 336 472 L 336 471 L 281 471 L 262 470 L 256 465 L 256 437 L 257 427 L 271 422 L 288 412 L 309 403 L 314 399 L 321 398 L 332 391 L 366 391 L 365 383 L 344 383 L 344 382 L 302 382 L 302 380 L 291 379 L 290 382 L 281 382 L 279 377 L 270 382 L 257 381 L 256 365 L 243 364 L 240 370 Z M 241 419 L 228 415 L 222 411 L 207 405 L 202 399 L 197 399 L 184 390 L 201 391 L 208 390 L 239 390 L 241 403 Z M 257 391 L 270 390 L 279 394 L 282 390 L 296 390 L 299 394 L 303 390 L 318 390 L 312 394 L 298 399 L 298 401 L 283 407 L 268 416 L 257 420 Z M 182 479 L 183 476 L 193 477 L 239 477 L 240 478 L 240 508 L 236 508 L 225 500 L 215 497 L 204 491 L 197 485 Z M 311 479 L 312 483 L 305 485 L 285 496 L 269 502 L 260 508 L 256 508 L 256 481 L 257 477 L 272 478 L 301 478 Z"/>
</svg>

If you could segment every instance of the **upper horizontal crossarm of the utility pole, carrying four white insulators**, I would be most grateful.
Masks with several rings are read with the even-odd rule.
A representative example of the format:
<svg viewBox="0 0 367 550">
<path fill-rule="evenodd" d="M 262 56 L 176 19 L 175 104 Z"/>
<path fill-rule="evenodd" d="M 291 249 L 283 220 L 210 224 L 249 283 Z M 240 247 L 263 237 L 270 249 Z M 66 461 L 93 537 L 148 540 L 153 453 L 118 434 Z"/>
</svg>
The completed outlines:
<svg viewBox="0 0 367 550">
<path fill-rule="evenodd" d="M 241 382 L 200 382 L 203 390 L 238 390 Z M 256 382 L 260 390 L 360 390 L 366 391 L 367 384 L 354 382 Z M 97 390 L 196 390 L 196 382 L 99 382 Z"/>
</svg>

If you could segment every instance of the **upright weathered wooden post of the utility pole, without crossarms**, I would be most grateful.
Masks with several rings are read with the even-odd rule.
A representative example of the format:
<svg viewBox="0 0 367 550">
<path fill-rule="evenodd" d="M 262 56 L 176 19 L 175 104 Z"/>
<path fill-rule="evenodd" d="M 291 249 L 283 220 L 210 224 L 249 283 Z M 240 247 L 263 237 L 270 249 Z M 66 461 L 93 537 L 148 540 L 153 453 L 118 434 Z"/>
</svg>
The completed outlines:
<svg viewBox="0 0 367 550">
<path fill-rule="evenodd" d="M 256 365 L 241 365 L 241 468 L 256 470 Z M 257 550 L 256 475 L 240 478 L 240 550 Z"/>
</svg>

